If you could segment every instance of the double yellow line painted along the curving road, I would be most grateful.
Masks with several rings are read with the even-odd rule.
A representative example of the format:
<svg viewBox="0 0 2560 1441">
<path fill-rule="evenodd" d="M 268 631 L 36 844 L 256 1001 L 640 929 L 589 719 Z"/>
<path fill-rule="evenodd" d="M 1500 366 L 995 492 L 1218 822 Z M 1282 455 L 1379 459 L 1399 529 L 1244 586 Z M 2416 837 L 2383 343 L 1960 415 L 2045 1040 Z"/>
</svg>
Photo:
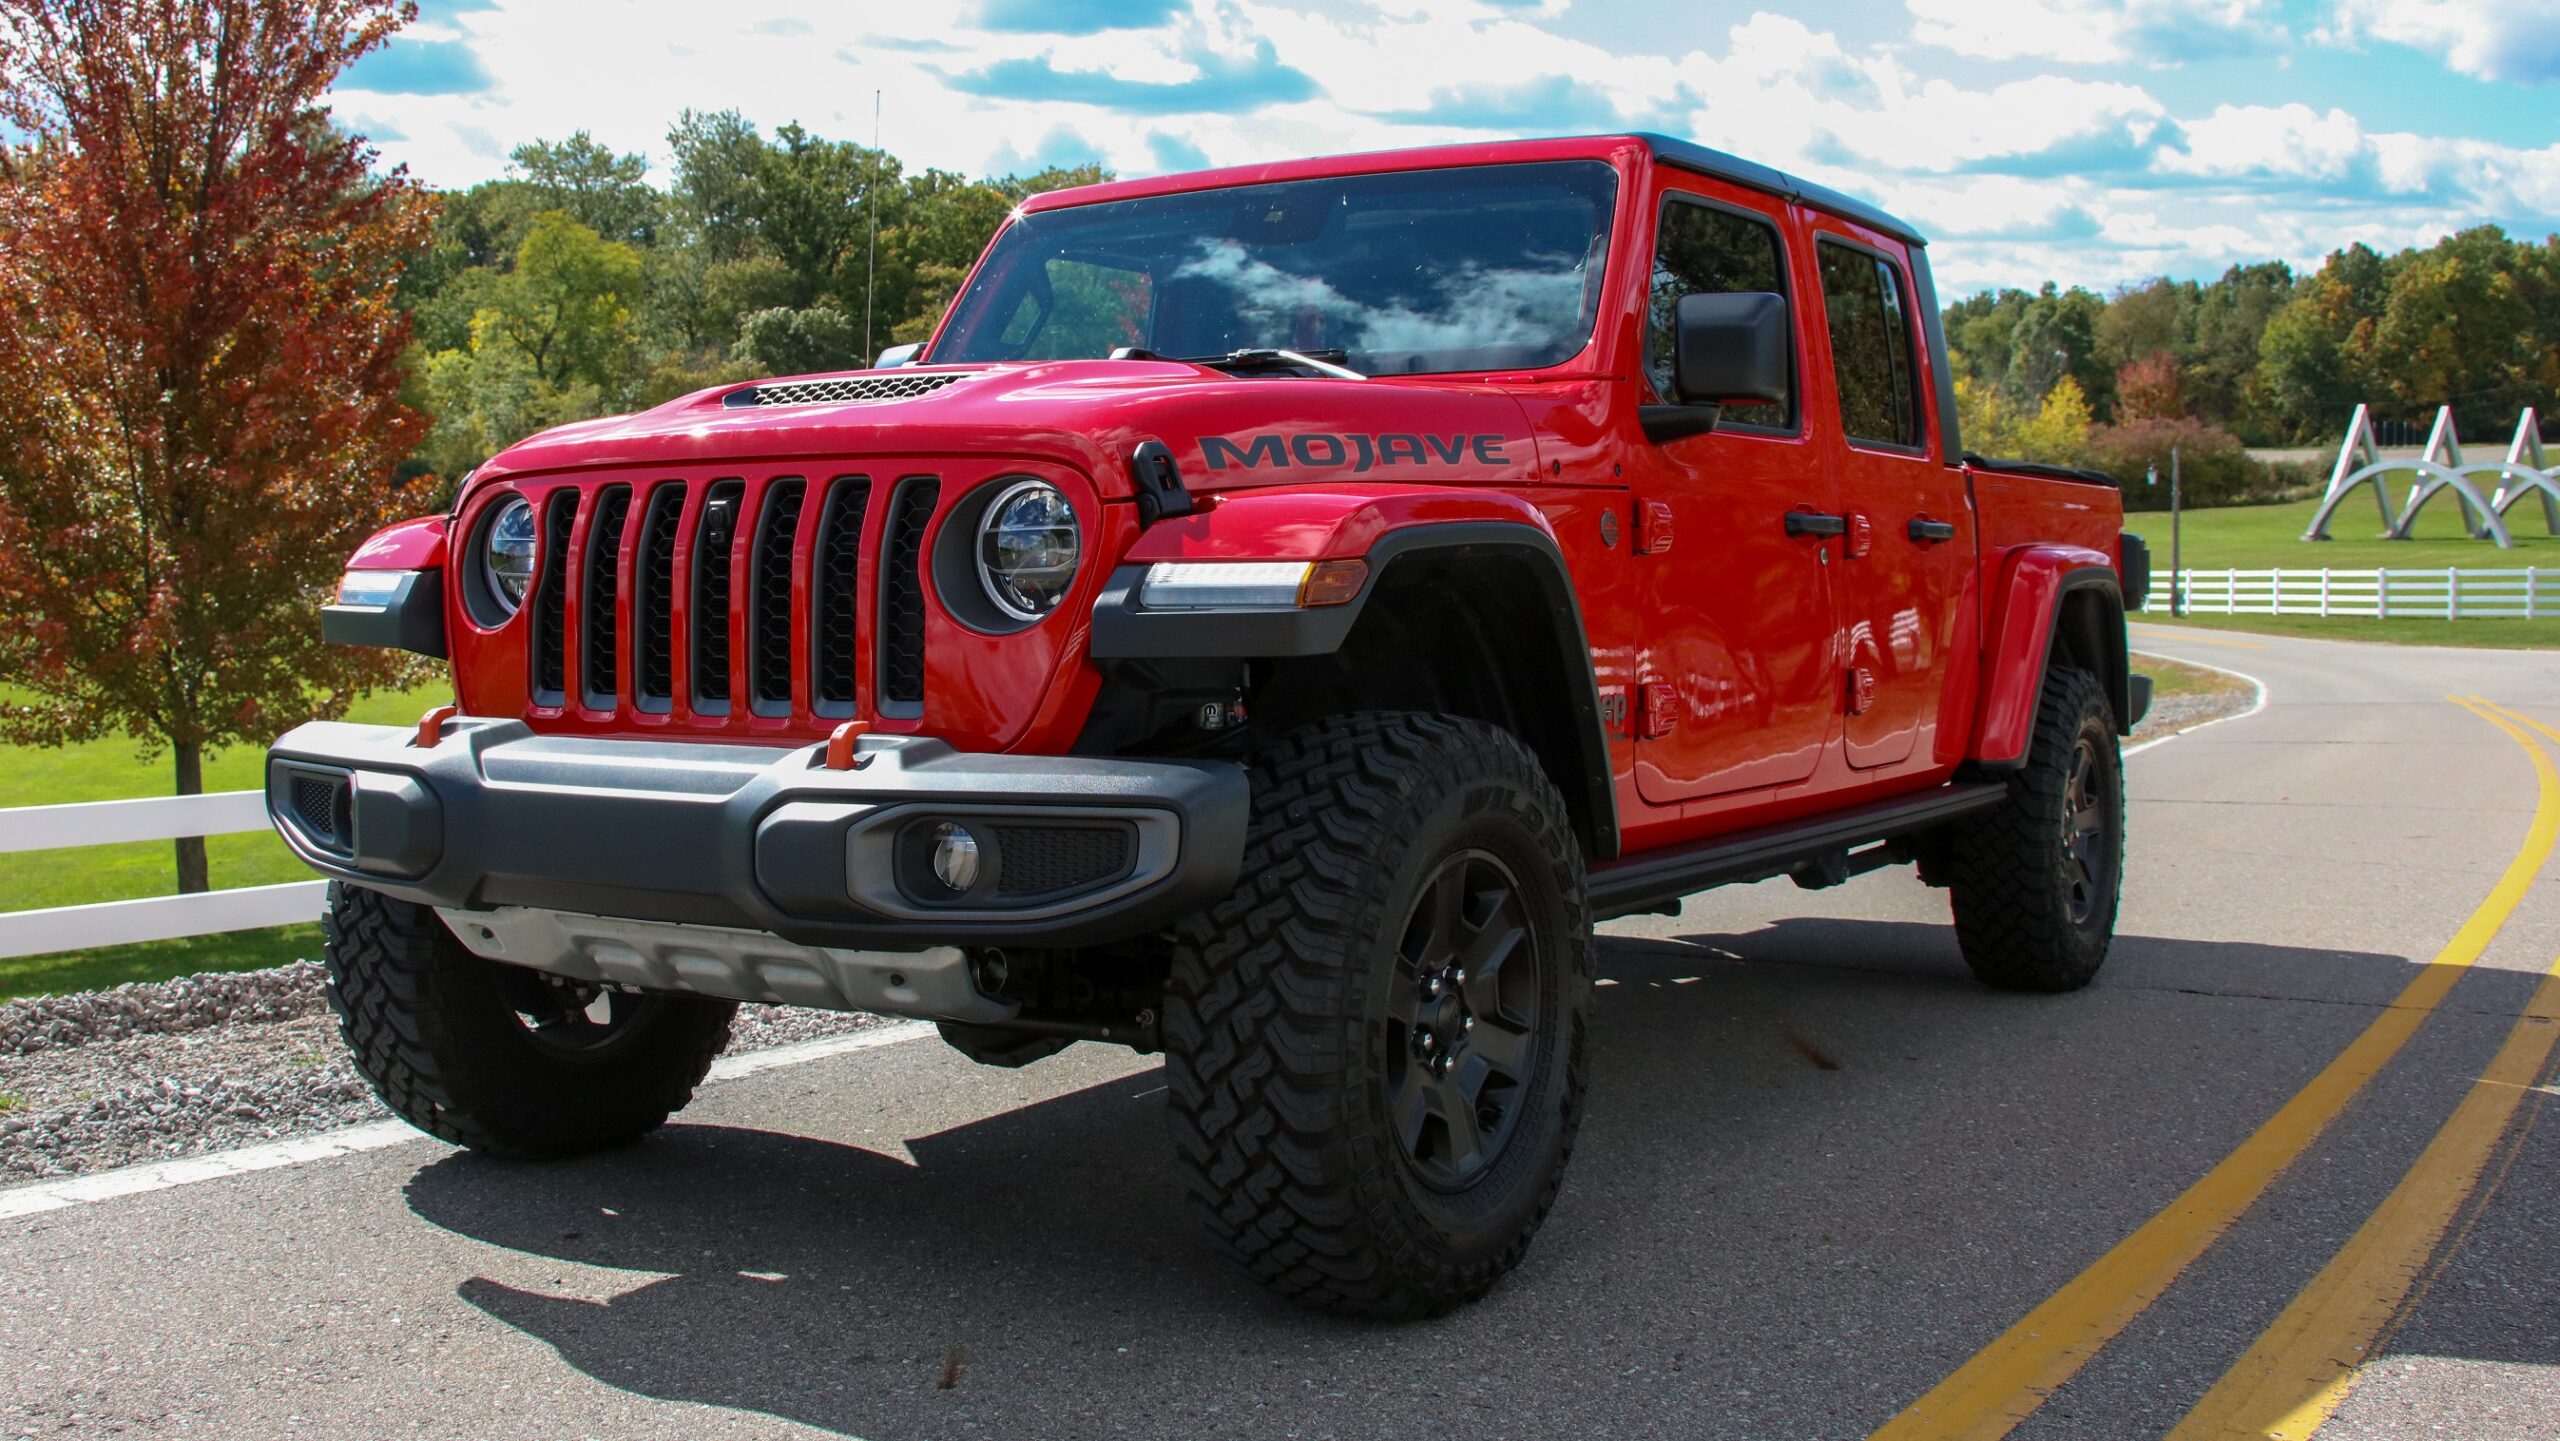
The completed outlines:
<svg viewBox="0 0 2560 1441">
<path fill-rule="evenodd" d="M 2524 847 L 2488 898 L 2383 1014 L 2230 1157 L 1884 1423 L 1874 1441 L 2007 1436 L 2230 1231 L 2488 950 L 2488 939 L 2524 901 L 2552 845 L 2560 842 L 2560 773 L 2524 727 L 2555 742 L 2560 732 L 2476 696 L 2452 701 L 2522 745 L 2540 781 Z M 2555 1042 L 2560 1042 L 2560 965 L 2545 978 L 2481 1083 L 2381 1211 L 2179 1423 L 2171 1433 L 2176 1441 L 2309 1436 L 2337 1410 L 2355 1382 L 2355 1369 L 2409 1295 L 2452 1213 L 2478 1185 L 2488 1154 L 2547 1065 Z"/>
</svg>

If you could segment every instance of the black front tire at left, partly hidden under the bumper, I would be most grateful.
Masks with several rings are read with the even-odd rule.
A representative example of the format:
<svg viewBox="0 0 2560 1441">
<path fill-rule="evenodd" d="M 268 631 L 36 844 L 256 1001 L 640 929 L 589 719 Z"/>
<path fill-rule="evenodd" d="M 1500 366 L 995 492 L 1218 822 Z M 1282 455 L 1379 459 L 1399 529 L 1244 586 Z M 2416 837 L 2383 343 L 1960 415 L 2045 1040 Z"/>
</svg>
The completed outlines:
<svg viewBox="0 0 2560 1441">
<path fill-rule="evenodd" d="M 540 978 L 471 955 L 433 909 L 330 883 L 323 932 L 338 1034 L 381 1103 L 499 1157 L 573 1157 L 663 1126 L 737 1014 L 735 1001 L 653 996 L 630 1034 L 568 1057 L 517 1019 L 515 988 Z"/>
</svg>

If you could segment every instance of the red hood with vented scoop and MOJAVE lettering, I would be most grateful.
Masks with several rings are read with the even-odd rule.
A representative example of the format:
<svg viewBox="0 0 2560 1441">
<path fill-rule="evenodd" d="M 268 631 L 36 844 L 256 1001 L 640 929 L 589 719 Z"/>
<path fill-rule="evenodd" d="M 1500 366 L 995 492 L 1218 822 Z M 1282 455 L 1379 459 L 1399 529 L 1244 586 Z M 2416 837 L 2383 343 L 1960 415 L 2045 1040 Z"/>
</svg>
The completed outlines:
<svg viewBox="0 0 2560 1441">
<path fill-rule="evenodd" d="M 1472 379 L 1234 376 L 1180 361 L 911 366 L 719 386 L 640 415 L 545 430 L 481 466 L 538 471 L 1019 456 L 1134 491 L 1129 456 L 1162 440 L 1193 491 L 1306 481 L 1521 481 L 1539 456 L 1523 407 Z"/>
</svg>

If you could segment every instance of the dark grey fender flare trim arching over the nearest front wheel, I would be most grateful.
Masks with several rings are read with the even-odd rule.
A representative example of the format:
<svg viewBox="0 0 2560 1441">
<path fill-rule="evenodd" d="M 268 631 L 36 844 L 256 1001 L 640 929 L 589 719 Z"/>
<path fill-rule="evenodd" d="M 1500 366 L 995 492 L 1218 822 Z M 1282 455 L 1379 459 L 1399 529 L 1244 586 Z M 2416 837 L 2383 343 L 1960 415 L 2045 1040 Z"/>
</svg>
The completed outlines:
<svg viewBox="0 0 2560 1441">
<path fill-rule="evenodd" d="M 1523 507 L 1526 509 L 1526 507 Z M 1536 514 L 1528 509 L 1528 514 Z M 1613 783 L 1608 729 L 1600 719 L 1600 681 L 1592 673 L 1590 632 L 1582 627 L 1582 601 L 1554 535 L 1531 520 L 1431 520 L 1377 535 L 1362 558 L 1370 578 L 1339 607 L 1300 609 L 1190 609 L 1149 612 L 1139 604 L 1147 563 L 1111 571 L 1093 604 L 1091 655 L 1096 660 L 1265 660 L 1290 655 L 1334 655 L 1352 637 L 1359 614 L 1380 591 L 1398 561 L 1490 558 L 1526 563 L 1539 586 L 1539 612 L 1549 642 L 1564 665 L 1564 704 L 1580 770 L 1580 811 L 1590 816 L 1590 860 L 1618 855 L 1618 788 Z M 1559 786 L 1567 778 L 1559 778 Z"/>
</svg>

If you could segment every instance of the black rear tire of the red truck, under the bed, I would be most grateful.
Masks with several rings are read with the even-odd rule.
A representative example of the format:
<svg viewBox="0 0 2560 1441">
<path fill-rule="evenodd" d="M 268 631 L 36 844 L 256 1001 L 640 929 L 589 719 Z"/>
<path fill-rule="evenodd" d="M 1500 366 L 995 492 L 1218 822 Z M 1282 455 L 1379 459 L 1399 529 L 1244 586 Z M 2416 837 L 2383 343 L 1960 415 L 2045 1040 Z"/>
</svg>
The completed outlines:
<svg viewBox="0 0 2560 1441">
<path fill-rule="evenodd" d="M 2097 796 L 2074 806 L 2084 745 Z M 2099 824 L 2104 875 L 2094 883 L 2068 847 L 2076 811 Z M 1948 827 L 1940 855 L 1956 942 L 1984 985 L 2079 991 L 2097 978 L 2125 883 L 2125 758 L 2097 676 L 2063 660 L 2045 671 L 2035 737 L 2025 768 L 2010 773 L 2007 801 Z M 2076 886 L 2086 888 L 2084 916 L 2074 916 Z"/>
</svg>

